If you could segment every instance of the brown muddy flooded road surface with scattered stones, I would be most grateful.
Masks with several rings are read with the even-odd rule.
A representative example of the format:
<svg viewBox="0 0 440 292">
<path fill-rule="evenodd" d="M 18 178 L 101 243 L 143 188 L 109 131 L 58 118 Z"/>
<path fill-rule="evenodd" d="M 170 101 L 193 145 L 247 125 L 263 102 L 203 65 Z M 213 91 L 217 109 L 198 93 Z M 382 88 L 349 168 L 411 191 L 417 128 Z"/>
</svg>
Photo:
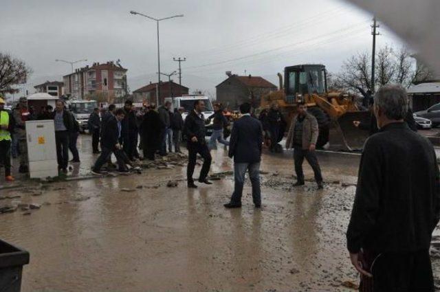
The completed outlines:
<svg viewBox="0 0 440 292">
<path fill-rule="evenodd" d="M 232 169 L 223 149 L 212 155 L 212 173 Z M 1 214 L 0 237 L 30 251 L 24 292 L 354 291 L 342 284 L 357 282 L 344 233 L 360 156 L 318 157 L 320 191 L 292 188 L 290 153 L 265 154 L 261 210 L 249 183 L 243 207 L 225 210 L 232 175 L 188 190 L 182 167 L 53 183 L 38 196 L 8 190 L 21 197 L 5 203 L 42 206 Z M 308 164 L 305 173 L 313 178 Z"/>
</svg>

